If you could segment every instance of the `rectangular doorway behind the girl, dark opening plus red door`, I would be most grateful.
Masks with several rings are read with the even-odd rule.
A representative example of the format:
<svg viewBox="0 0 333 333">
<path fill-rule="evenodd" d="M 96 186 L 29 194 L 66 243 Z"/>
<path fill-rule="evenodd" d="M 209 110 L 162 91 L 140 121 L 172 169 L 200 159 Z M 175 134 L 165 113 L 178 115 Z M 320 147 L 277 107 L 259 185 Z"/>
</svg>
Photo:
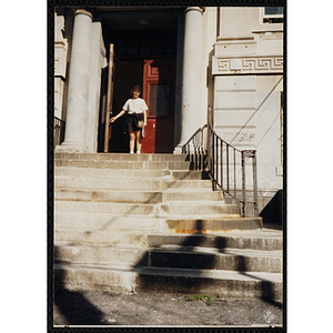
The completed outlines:
<svg viewBox="0 0 333 333">
<path fill-rule="evenodd" d="M 112 112 L 117 115 L 131 89 L 139 84 L 148 105 L 142 138 L 142 153 L 172 153 L 174 133 L 174 59 L 114 61 Z M 109 152 L 129 152 L 129 133 L 124 114 L 112 124 Z"/>
</svg>

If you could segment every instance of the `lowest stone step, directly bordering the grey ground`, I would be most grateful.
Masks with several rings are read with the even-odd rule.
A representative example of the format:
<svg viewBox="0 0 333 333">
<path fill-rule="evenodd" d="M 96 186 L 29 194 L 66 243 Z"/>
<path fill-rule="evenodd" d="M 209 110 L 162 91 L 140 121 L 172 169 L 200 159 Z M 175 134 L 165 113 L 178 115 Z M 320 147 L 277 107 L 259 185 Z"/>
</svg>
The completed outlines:
<svg viewBox="0 0 333 333">
<path fill-rule="evenodd" d="M 54 264 L 56 285 L 128 292 L 219 292 L 232 297 L 282 301 L 282 273 L 132 268 L 129 265 Z M 153 280 L 152 280 L 153 279 Z M 203 285 L 196 282 L 202 281 Z M 153 283 L 152 283 L 153 282 Z M 165 282 L 169 287 L 165 289 Z M 176 285 L 178 284 L 178 285 Z M 182 289 L 180 291 L 180 289 Z"/>
</svg>

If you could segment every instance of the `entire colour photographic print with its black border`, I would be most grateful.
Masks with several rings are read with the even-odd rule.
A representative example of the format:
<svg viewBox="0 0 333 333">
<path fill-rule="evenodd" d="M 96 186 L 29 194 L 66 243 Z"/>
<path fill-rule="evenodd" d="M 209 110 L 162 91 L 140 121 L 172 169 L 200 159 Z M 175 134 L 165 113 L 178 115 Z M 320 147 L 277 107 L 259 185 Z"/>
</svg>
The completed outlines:
<svg viewBox="0 0 333 333">
<path fill-rule="evenodd" d="M 285 332 L 285 1 L 192 4 L 49 2 L 50 332 Z"/>
</svg>

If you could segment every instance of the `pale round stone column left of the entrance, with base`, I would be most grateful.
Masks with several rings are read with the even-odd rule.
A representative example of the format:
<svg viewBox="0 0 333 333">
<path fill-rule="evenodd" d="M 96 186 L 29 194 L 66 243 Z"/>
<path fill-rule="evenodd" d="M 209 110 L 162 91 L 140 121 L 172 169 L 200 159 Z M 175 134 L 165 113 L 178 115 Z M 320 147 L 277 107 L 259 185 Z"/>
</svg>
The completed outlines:
<svg viewBox="0 0 333 333">
<path fill-rule="evenodd" d="M 88 152 L 87 113 L 89 98 L 90 44 L 92 14 L 83 9 L 74 12 L 70 59 L 68 107 L 64 141 L 58 150 Z"/>
</svg>

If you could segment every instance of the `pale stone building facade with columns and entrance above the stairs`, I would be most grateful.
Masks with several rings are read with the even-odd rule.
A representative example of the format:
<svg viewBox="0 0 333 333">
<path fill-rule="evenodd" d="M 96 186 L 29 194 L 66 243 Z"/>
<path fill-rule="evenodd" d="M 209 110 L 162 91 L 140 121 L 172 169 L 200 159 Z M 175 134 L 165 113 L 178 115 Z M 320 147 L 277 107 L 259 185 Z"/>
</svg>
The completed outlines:
<svg viewBox="0 0 333 333">
<path fill-rule="evenodd" d="M 283 188 L 281 7 L 57 8 L 54 22 L 57 151 L 127 152 L 108 112 L 140 84 L 143 152 L 179 153 L 211 105 L 223 140 L 256 150 L 260 206 Z"/>
</svg>

